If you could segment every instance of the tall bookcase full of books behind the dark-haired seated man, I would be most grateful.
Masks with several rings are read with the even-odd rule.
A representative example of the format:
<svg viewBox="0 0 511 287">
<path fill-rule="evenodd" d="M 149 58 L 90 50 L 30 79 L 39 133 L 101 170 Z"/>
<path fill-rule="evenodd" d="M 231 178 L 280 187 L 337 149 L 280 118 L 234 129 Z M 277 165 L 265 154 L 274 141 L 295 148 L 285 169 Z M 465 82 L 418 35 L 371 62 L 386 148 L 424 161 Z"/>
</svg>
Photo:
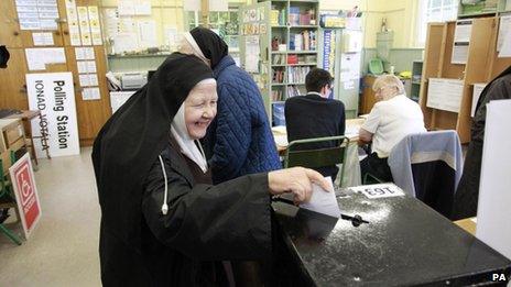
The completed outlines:
<svg viewBox="0 0 511 287">
<path fill-rule="evenodd" d="M 254 22 L 254 19 L 250 18 L 252 11 L 264 12 L 258 21 L 260 25 L 265 23 L 269 29 L 267 34 L 259 35 L 259 41 L 261 57 L 269 55 L 269 58 L 260 62 L 259 74 L 263 75 L 258 75 L 257 78 L 264 79 L 260 81 L 261 95 L 270 122 L 273 122 L 272 103 L 284 101 L 290 96 L 304 95 L 305 75 L 317 66 L 320 49 L 317 42 L 319 1 L 258 0 L 256 2 L 241 9 L 243 15 L 241 19 L 248 19 L 244 22 L 250 25 Z"/>
</svg>

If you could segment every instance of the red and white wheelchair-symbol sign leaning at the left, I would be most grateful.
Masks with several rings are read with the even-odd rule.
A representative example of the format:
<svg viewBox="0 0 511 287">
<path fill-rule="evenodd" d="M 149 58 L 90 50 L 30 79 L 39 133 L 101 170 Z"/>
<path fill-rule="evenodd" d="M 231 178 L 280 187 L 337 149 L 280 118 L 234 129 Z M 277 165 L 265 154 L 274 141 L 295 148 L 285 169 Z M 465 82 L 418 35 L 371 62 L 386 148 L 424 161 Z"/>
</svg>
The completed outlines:
<svg viewBox="0 0 511 287">
<path fill-rule="evenodd" d="M 21 222 L 25 232 L 25 239 L 34 230 L 41 218 L 41 205 L 39 202 L 37 188 L 35 187 L 34 173 L 29 153 L 24 154 L 10 168 L 12 186 L 20 210 Z"/>
</svg>

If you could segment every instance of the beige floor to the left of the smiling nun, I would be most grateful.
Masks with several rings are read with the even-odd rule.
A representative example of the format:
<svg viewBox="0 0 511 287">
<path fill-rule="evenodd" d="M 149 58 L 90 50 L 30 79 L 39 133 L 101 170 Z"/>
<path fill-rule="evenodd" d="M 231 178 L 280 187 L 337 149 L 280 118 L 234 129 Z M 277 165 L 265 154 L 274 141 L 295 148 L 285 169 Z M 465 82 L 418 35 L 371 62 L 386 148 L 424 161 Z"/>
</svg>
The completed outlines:
<svg viewBox="0 0 511 287">
<path fill-rule="evenodd" d="M 40 161 L 42 218 L 21 246 L 0 234 L 0 286 L 100 286 L 100 210 L 90 152 Z M 9 227 L 22 232 L 21 223 Z"/>
</svg>

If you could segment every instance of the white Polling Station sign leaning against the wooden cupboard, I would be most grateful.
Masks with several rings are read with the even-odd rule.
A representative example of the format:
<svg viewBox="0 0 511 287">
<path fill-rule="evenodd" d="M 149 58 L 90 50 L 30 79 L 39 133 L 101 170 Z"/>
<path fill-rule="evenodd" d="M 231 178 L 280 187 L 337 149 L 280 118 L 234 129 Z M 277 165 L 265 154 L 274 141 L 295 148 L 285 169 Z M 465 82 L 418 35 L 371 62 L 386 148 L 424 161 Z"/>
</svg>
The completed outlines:
<svg viewBox="0 0 511 287">
<path fill-rule="evenodd" d="M 34 136 L 46 135 L 47 141 L 34 141 L 37 157 L 79 154 L 75 90 L 72 73 L 26 74 L 29 107 L 41 111 L 41 120 L 32 121 Z"/>
</svg>

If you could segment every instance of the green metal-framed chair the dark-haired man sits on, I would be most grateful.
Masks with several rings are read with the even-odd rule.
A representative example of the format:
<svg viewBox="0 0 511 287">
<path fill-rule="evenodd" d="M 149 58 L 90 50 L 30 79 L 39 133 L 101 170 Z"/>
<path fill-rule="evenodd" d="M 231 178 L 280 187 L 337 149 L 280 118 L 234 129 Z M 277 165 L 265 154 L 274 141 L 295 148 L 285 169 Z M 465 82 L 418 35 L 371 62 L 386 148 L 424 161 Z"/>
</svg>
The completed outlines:
<svg viewBox="0 0 511 287">
<path fill-rule="evenodd" d="M 316 148 L 316 150 L 296 150 L 300 145 L 336 141 L 334 147 Z M 316 139 L 296 140 L 287 145 L 284 156 L 284 168 L 293 166 L 303 166 L 307 168 L 318 168 L 324 166 L 331 166 L 343 164 L 340 168 L 340 181 L 344 178 L 344 162 L 346 158 L 346 151 L 349 144 L 349 139 L 344 135 L 325 136 Z M 335 178 L 333 178 L 335 180 Z"/>
</svg>

